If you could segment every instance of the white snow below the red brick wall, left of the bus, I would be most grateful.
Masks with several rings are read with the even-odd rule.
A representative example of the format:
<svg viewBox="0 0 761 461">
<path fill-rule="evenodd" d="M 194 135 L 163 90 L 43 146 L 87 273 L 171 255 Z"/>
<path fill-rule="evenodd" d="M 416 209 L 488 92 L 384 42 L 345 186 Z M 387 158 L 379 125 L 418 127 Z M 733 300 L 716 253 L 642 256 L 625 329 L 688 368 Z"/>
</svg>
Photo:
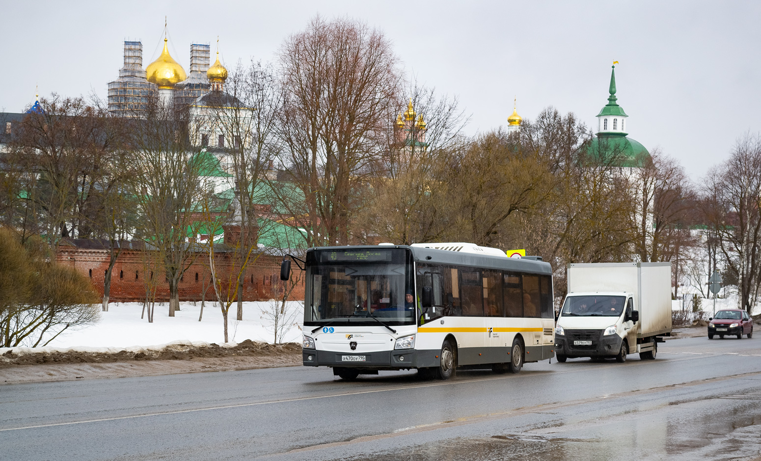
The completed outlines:
<svg viewBox="0 0 761 461">
<path fill-rule="evenodd" d="M 274 342 L 272 320 L 266 315 L 275 301 L 244 302 L 243 319 L 235 320 L 237 307 L 230 308 L 228 339 L 230 342 Z M 286 316 L 291 317 L 290 328 L 278 342 L 301 342 L 301 325 L 304 322 L 303 303 L 289 301 Z M 111 303 L 108 312 L 100 313 L 100 322 L 81 329 L 62 333 L 48 346 L 53 348 L 129 348 L 131 346 L 165 345 L 170 342 L 224 343 L 222 313 L 212 302 L 206 303 L 202 321 L 198 321 L 201 303 L 180 303 L 180 310 L 169 316 L 169 306 L 156 304 L 153 323 L 148 317 L 140 318 L 141 303 Z"/>
</svg>

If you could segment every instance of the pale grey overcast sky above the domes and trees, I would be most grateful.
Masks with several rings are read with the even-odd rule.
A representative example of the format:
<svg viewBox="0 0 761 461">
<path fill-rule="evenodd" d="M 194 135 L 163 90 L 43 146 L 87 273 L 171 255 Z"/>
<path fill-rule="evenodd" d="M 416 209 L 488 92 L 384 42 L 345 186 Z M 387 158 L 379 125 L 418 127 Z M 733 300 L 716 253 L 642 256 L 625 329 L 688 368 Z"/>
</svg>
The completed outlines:
<svg viewBox="0 0 761 461">
<path fill-rule="evenodd" d="M 123 41 L 143 65 L 161 52 L 189 70 L 190 43 L 220 38 L 224 64 L 272 60 L 310 17 L 349 16 L 393 41 L 408 75 L 457 95 L 470 134 L 544 107 L 596 127 L 616 65 L 629 137 L 676 157 L 694 180 L 761 130 L 761 2 L 2 2 L 0 110 L 40 94 L 107 95 Z M 213 61 L 212 44 L 212 61 Z"/>
</svg>

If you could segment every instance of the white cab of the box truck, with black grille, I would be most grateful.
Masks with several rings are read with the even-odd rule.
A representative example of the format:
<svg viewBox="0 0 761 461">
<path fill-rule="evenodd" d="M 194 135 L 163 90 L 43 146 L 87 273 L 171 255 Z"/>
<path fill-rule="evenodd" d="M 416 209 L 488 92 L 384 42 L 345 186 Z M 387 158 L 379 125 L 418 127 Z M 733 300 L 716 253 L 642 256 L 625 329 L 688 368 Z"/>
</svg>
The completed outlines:
<svg viewBox="0 0 761 461">
<path fill-rule="evenodd" d="M 634 293 L 569 293 L 556 323 L 556 357 L 626 361 L 626 354 L 637 351 L 638 320 Z"/>
</svg>

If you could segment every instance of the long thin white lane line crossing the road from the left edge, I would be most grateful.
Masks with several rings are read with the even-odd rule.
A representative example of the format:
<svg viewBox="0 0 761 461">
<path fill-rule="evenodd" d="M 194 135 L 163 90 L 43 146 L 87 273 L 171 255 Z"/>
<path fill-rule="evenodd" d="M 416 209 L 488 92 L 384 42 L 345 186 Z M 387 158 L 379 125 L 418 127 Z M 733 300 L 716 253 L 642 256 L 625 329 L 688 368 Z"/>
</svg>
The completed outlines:
<svg viewBox="0 0 761 461">
<path fill-rule="evenodd" d="M 708 357 L 715 357 L 719 354 L 715 354 Z M 623 364 L 617 365 L 617 367 L 635 367 L 635 366 L 651 366 L 654 364 L 665 364 L 669 362 L 679 362 L 679 361 L 687 361 L 687 360 L 696 360 L 698 358 L 703 357 L 693 357 L 693 358 L 671 358 L 667 360 L 656 360 L 656 361 L 633 361 L 633 362 L 626 362 Z M 121 419 L 134 419 L 134 418 L 147 418 L 150 416 L 163 416 L 163 415 L 181 415 L 183 413 L 193 413 L 193 412 L 208 412 L 212 410 L 222 410 L 222 409 L 237 409 L 237 408 L 243 408 L 243 407 L 249 407 L 249 406 L 259 406 L 259 405 L 271 405 L 275 403 L 288 403 L 288 402 L 303 402 L 306 400 L 317 400 L 317 399 L 332 399 L 334 397 L 344 397 L 344 396 L 361 396 L 363 394 L 374 394 L 374 393 L 384 393 L 384 392 L 391 392 L 396 390 L 407 390 L 407 389 L 425 389 L 427 387 L 439 387 L 439 386 L 456 386 L 459 384 L 467 384 L 467 383 L 482 383 L 486 381 L 496 381 L 496 380 L 510 380 L 510 379 L 516 379 L 520 377 L 543 377 L 548 374 L 568 374 L 568 373 L 581 373 L 582 371 L 595 369 L 595 368 L 602 368 L 607 367 L 607 364 L 597 364 L 597 365 L 591 365 L 583 368 L 579 368 L 578 370 L 566 370 L 566 371 L 544 371 L 544 370 L 537 370 L 530 372 L 530 374 L 524 373 L 524 374 L 514 374 L 510 376 L 501 376 L 501 377 L 488 377 L 488 378 L 476 378 L 473 380 L 458 380 L 458 381 L 444 381 L 442 383 L 429 383 L 429 384 L 419 384 L 416 386 L 399 386 L 399 387 L 390 387 L 387 389 L 372 389 L 372 390 L 365 390 L 365 391 L 358 391 L 353 393 L 340 393 L 340 394 L 330 394 L 327 396 L 310 396 L 310 397 L 297 397 L 294 399 L 281 399 L 281 400 L 267 400 L 265 402 L 251 402 L 251 403 L 239 403 L 235 405 L 218 405 L 218 406 L 211 406 L 211 407 L 204 407 L 200 409 L 186 409 L 186 410 L 173 410 L 170 412 L 153 412 L 153 413 L 142 413 L 140 415 L 129 415 L 129 416 L 115 416 L 113 418 L 97 418 L 97 419 L 87 419 L 83 421 L 65 421 L 65 422 L 59 422 L 59 423 L 50 423 L 50 424 L 37 424 L 33 426 L 22 426 L 20 428 L 5 428 L 0 429 L 0 432 L 5 431 L 20 431 L 21 429 L 36 429 L 36 428 L 52 428 L 54 426 L 68 426 L 72 424 L 85 424 L 85 423 L 92 423 L 92 422 L 103 422 L 103 421 L 119 421 Z M 761 374 L 761 371 L 756 372 Z M 751 373 L 753 374 L 753 373 Z M 733 376 L 740 376 L 740 375 L 729 375 L 729 377 Z M 671 384 L 670 386 L 675 386 L 679 384 L 684 383 L 675 383 Z"/>
</svg>

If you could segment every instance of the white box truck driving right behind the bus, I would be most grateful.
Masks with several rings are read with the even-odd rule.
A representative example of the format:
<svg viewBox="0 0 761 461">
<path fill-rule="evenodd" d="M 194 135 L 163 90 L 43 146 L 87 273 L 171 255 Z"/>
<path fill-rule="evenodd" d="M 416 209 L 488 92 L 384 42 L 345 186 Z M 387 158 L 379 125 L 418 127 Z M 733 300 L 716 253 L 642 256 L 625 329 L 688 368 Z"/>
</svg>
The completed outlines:
<svg viewBox="0 0 761 461">
<path fill-rule="evenodd" d="M 652 360 L 671 335 L 671 263 L 568 265 L 568 294 L 555 327 L 555 354 Z"/>
</svg>

